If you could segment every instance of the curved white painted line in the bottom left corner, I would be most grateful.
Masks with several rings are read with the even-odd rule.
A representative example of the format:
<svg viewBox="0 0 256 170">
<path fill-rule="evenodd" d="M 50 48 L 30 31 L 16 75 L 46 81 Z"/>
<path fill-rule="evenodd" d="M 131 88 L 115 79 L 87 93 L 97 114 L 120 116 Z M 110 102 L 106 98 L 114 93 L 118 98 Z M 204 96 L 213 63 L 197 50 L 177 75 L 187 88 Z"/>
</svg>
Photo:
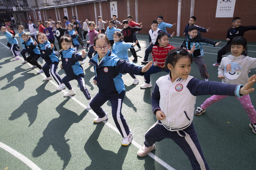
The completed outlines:
<svg viewBox="0 0 256 170">
<path fill-rule="evenodd" d="M 24 162 L 32 170 L 42 170 L 38 166 L 36 166 L 36 164 L 34 164 L 31 160 L 29 160 L 27 157 L 25 157 L 24 155 L 15 151 L 11 147 L 7 146 L 6 144 L 3 144 L 2 142 L 0 142 L 0 147 L 3 148 L 5 151 L 11 153 L 16 158 L 20 159 L 22 162 Z M 19 168 L 17 167 L 17 169 L 19 169 Z"/>
</svg>

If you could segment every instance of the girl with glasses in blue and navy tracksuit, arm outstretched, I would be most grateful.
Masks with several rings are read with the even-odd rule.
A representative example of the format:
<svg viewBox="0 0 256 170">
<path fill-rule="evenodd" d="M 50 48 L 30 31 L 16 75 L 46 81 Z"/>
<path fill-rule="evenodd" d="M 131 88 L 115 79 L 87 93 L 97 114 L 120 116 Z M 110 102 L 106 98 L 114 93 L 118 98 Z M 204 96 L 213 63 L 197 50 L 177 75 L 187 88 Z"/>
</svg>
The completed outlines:
<svg viewBox="0 0 256 170">
<path fill-rule="evenodd" d="M 143 75 L 152 62 L 144 67 L 138 67 L 126 60 L 119 59 L 109 50 L 110 43 L 105 34 L 98 34 L 94 38 L 94 49 L 97 54 L 90 59 L 89 63 L 92 63 L 95 67 L 96 76 L 93 79 L 93 83 L 98 86 L 99 92 L 93 97 L 90 107 L 99 117 L 93 121 L 99 123 L 108 119 L 108 114 L 105 113 L 101 106 L 110 100 L 113 119 L 124 138 L 122 145 L 129 145 L 132 140 L 132 131 L 129 129 L 121 112 L 125 94 L 124 82 L 121 76 L 124 73 Z"/>
</svg>

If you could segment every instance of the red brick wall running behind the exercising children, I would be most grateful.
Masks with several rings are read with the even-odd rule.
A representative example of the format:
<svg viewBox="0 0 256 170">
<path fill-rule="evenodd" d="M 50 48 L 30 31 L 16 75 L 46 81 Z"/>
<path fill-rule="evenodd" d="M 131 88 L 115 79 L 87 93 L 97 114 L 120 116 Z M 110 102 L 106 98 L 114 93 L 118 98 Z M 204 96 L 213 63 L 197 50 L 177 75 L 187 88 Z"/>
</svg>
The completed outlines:
<svg viewBox="0 0 256 170">
<path fill-rule="evenodd" d="M 127 19 L 127 0 L 116 0 L 117 1 L 117 12 L 120 22 Z M 220 0 L 196 0 L 194 8 L 194 16 L 196 16 L 196 25 L 202 26 L 204 28 L 209 28 L 208 33 L 202 33 L 204 37 L 212 39 L 226 39 L 226 34 L 228 28 L 232 27 L 232 18 L 215 18 L 217 3 Z M 135 16 L 135 0 L 130 0 L 130 15 L 133 17 L 133 21 L 136 21 Z M 110 3 L 111 1 L 101 2 L 102 18 L 104 21 L 110 20 Z M 191 0 L 181 1 L 181 20 L 180 20 L 180 36 L 183 36 L 183 31 L 185 26 L 188 24 L 190 18 L 190 6 Z M 240 1 L 236 0 L 234 17 L 240 17 L 242 19 L 242 24 L 244 26 L 255 25 L 255 12 L 256 1 L 246 0 Z M 68 8 L 68 18 L 72 18 L 71 7 Z M 77 5 L 78 20 L 84 22 L 85 18 L 90 18 L 91 21 L 95 21 L 94 14 L 94 3 Z M 63 8 L 60 8 L 60 17 L 63 21 Z M 75 7 L 73 7 L 74 15 L 76 15 Z M 100 4 L 96 3 L 96 13 L 97 17 L 100 15 Z M 36 11 L 37 14 L 37 11 Z M 32 11 L 28 11 L 28 15 L 31 15 L 32 19 L 35 19 Z M 38 14 L 37 14 L 38 15 Z M 41 11 L 43 19 L 43 11 Z M 52 16 L 53 20 L 56 19 L 56 14 L 54 9 L 46 10 L 47 18 Z M 143 29 L 139 33 L 148 33 L 150 30 L 150 25 L 153 20 L 157 19 L 158 15 L 163 15 L 163 21 L 166 23 L 177 23 L 178 18 L 178 0 L 138 0 L 138 22 L 142 22 Z M 38 16 L 37 16 L 38 18 Z M 96 20 L 95 22 L 98 22 Z M 105 29 L 108 24 L 105 25 Z M 118 28 L 122 29 L 122 25 L 118 25 Z M 166 28 L 168 33 L 177 31 L 177 26 L 174 28 Z M 247 31 L 244 37 L 247 41 L 255 41 L 256 31 Z"/>
</svg>

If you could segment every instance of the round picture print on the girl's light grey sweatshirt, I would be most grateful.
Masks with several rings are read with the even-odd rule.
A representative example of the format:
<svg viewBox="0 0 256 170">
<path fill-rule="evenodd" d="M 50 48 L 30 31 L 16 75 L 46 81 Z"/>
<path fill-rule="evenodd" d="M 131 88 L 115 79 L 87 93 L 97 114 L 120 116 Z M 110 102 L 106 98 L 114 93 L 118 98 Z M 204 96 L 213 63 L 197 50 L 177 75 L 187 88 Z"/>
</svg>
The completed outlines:
<svg viewBox="0 0 256 170">
<path fill-rule="evenodd" d="M 237 79 L 241 73 L 242 73 L 242 66 L 238 63 L 228 63 L 225 66 L 225 76 L 229 79 L 229 80 L 235 80 Z"/>
</svg>

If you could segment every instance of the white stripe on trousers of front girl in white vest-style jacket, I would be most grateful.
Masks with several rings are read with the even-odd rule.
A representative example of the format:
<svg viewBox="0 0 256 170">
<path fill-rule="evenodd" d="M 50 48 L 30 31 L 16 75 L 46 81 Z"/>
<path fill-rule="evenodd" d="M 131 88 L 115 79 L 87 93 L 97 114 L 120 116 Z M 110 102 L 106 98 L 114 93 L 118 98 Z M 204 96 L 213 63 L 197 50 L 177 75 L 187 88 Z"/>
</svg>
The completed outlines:
<svg viewBox="0 0 256 170">
<path fill-rule="evenodd" d="M 197 162 L 199 163 L 200 167 L 201 167 L 201 170 L 206 170 L 205 168 L 205 164 L 204 164 L 204 160 L 202 159 L 198 149 L 196 148 L 196 145 L 194 144 L 193 140 L 191 139 L 191 137 L 185 132 L 183 131 L 186 136 L 185 136 L 185 140 L 187 141 L 188 145 L 190 146 L 192 152 L 194 153 L 195 157 L 196 157 L 196 160 Z M 177 133 L 180 135 L 180 132 L 177 131 Z M 181 137 L 184 137 L 182 135 L 180 135 Z"/>
</svg>

